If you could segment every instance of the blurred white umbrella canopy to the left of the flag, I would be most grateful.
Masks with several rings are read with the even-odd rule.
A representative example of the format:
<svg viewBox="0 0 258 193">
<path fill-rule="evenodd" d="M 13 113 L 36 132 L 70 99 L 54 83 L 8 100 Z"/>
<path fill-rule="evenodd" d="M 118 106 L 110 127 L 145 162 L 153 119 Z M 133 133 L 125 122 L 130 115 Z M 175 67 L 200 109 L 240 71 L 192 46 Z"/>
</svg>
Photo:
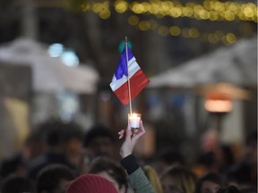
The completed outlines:
<svg viewBox="0 0 258 193">
<path fill-rule="evenodd" d="M 65 66 L 60 58 L 50 57 L 47 46 L 29 38 L 18 38 L 0 46 L 0 61 L 13 65 L 30 65 L 32 86 L 38 92 L 70 90 L 93 93 L 99 74 L 89 65 Z"/>
</svg>

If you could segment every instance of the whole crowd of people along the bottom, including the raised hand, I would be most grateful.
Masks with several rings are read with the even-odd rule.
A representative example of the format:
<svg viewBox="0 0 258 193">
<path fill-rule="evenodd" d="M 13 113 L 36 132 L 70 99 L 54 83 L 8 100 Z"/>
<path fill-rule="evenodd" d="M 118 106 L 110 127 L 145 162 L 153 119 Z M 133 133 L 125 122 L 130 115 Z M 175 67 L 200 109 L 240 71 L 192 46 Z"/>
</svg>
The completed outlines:
<svg viewBox="0 0 258 193">
<path fill-rule="evenodd" d="M 75 122 L 44 122 L 19 154 L 1 162 L 0 192 L 257 192 L 257 130 L 247 136 L 245 154 L 237 162 L 230 147 L 219 146 L 196 155 L 194 165 L 185 164 L 184 155 L 172 148 L 159 150 L 148 162 L 133 155 L 146 131 L 142 121 L 136 132 L 128 124 L 117 136 L 103 125 L 84 132 Z"/>
</svg>

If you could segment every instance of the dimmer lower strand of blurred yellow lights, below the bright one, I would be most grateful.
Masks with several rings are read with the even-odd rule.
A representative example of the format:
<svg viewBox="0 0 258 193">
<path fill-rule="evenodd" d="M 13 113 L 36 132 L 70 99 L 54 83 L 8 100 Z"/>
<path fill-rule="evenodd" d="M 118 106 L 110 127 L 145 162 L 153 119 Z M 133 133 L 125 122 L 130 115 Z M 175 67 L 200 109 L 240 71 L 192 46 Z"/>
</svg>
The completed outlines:
<svg viewBox="0 0 258 193">
<path fill-rule="evenodd" d="M 237 41 L 236 34 L 228 32 L 224 33 L 221 30 L 216 30 L 213 33 L 203 33 L 199 29 L 195 28 L 179 28 L 178 26 L 164 26 L 159 25 L 157 21 L 140 21 L 137 15 L 131 15 L 128 18 L 128 23 L 133 27 L 142 31 L 154 30 L 160 36 L 183 36 L 184 38 L 201 38 L 203 41 L 216 44 L 222 42 L 224 45 L 234 44 Z"/>
</svg>

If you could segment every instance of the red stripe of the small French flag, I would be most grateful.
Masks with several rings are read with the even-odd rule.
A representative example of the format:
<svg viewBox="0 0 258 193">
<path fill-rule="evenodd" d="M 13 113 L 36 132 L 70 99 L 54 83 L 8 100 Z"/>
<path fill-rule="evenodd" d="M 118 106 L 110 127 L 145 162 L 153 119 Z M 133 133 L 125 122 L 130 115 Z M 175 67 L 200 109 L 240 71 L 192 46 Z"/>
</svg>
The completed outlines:
<svg viewBox="0 0 258 193">
<path fill-rule="evenodd" d="M 149 82 L 150 80 L 148 80 L 141 69 L 136 71 L 130 79 L 131 100 L 133 100 Z M 127 105 L 129 103 L 128 82 L 126 81 L 120 88 L 117 88 L 115 94 L 123 105 Z"/>
</svg>

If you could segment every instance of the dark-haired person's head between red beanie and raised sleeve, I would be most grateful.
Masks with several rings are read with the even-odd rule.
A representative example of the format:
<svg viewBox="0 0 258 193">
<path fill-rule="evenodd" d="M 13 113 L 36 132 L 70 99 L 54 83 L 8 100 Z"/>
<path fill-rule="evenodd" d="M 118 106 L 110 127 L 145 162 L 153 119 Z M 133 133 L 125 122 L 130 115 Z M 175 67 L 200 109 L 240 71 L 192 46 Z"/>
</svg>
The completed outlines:
<svg viewBox="0 0 258 193">
<path fill-rule="evenodd" d="M 119 193 L 126 193 L 128 182 L 125 169 L 121 164 L 107 157 L 97 157 L 90 164 L 89 173 L 96 173 L 110 180 Z"/>
</svg>

